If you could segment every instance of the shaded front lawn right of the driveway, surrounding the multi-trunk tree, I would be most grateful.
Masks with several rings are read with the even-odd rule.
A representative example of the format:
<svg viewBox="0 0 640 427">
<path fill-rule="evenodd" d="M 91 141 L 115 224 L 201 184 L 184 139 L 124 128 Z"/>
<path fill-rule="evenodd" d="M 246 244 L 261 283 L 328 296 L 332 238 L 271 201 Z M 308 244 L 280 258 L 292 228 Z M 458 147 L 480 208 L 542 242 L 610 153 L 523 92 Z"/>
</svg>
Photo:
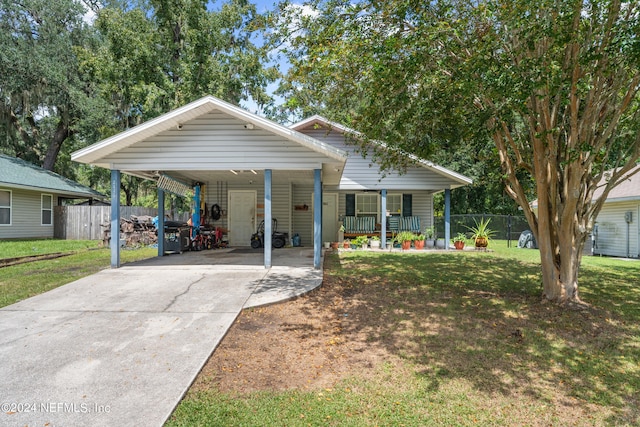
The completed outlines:
<svg viewBox="0 0 640 427">
<path fill-rule="evenodd" d="M 541 303 L 537 251 L 492 247 L 328 256 L 388 361 L 330 389 L 189 393 L 167 425 L 639 425 L 640 262 L 585 257 L 572 310 Z"/>
</svg>

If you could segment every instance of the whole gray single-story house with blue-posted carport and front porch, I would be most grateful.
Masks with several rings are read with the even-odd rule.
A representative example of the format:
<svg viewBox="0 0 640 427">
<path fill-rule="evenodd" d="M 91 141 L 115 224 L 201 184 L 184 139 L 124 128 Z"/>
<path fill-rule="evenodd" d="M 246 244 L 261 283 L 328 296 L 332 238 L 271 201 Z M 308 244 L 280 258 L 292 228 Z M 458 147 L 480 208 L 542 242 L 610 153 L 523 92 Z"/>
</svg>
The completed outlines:
<svg viewBox="0 0 640 427">
<path fill-rule="evenodd" d="M 249 246 L 264 220 L 265 267 L 271 266 L 272 219 L 278 231 L 313 246 L 317 268 L 322 242 L 335 241 L 340 224 L 383 239 L 394 227 L 424 230 L 433 223 L 433 194 L 445 191 L 448 202 L 451 189 L 471 183 L 420 159 L 407 173 L 382 178 L 345 143 L 346 132 L 321 117 L 285 127 L 207 96 L 76 151 L 72 160 L 110 169 L 116 192 L 121 173 L 157 181 L 161 228 L 165 193 L 189 187 L 205 222 L 224 229 L 231 246 Z M 112 197 L 112 222 L 118 212 Z M 112 245 L 112 266 L 118 265 L 119 248 Z"/>
</svg>

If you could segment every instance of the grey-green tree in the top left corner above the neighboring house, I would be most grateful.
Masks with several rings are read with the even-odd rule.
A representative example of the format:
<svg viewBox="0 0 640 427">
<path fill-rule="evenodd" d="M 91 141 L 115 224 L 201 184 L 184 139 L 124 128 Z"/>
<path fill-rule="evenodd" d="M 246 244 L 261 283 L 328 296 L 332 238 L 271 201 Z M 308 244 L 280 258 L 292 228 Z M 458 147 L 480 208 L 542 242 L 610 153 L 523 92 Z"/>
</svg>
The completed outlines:
<svg viewBox="0 0 640 427">
<path fill-rule="evenodd" d="M 102 106 L 78 73 L 90 39 L 80 2 L 0 0 L 0 134 L 3 151 L 54 170 L 63 144 Z M 60 171 L 65 172 L 65 171 Z"/>
</svg>

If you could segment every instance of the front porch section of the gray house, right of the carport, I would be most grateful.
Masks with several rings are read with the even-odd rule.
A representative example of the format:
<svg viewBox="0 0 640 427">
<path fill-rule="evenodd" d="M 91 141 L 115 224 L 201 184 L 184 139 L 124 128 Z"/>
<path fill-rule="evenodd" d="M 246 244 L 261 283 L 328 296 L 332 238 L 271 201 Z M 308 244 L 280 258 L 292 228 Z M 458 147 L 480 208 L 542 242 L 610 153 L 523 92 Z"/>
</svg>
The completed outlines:
<svg viewBox="0 0 640 427">
<path fill-rule="evenodd" d="M 424 232 L 433 226 L 433 195 L 471 183 L 463 175 L 411 155 L 414 166 L 402 174 L 386 171 L 383 176 L 370 158 L 347 143 L 347 137 L 357 137 L 355 130 L 321 116 L 291 128 L 347 153 L 340 182 L 323 186 L 323 241 L 335 241 L 340 225 L 345 237 L 380 234 L 383 225 L 387 237 L 401 230 Z"/>
</svg>

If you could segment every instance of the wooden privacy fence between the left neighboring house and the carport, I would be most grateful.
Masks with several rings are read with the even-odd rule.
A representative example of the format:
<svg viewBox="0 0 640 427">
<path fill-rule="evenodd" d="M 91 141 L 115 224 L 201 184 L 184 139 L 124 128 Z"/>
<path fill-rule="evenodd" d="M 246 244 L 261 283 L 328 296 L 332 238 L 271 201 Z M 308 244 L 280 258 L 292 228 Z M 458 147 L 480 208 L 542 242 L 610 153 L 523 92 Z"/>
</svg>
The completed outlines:
<svg viewBox="0 0 640 427">
<path fill-rule="evenodd" d="M 158 215 L 154 208 L 121 206 L 120 217 Z M 55 206 L 53 208 L 53 236 L 67 240 L 102 240 L 102 224 L 111 221 L 111 206 Z"/>
</svg>

